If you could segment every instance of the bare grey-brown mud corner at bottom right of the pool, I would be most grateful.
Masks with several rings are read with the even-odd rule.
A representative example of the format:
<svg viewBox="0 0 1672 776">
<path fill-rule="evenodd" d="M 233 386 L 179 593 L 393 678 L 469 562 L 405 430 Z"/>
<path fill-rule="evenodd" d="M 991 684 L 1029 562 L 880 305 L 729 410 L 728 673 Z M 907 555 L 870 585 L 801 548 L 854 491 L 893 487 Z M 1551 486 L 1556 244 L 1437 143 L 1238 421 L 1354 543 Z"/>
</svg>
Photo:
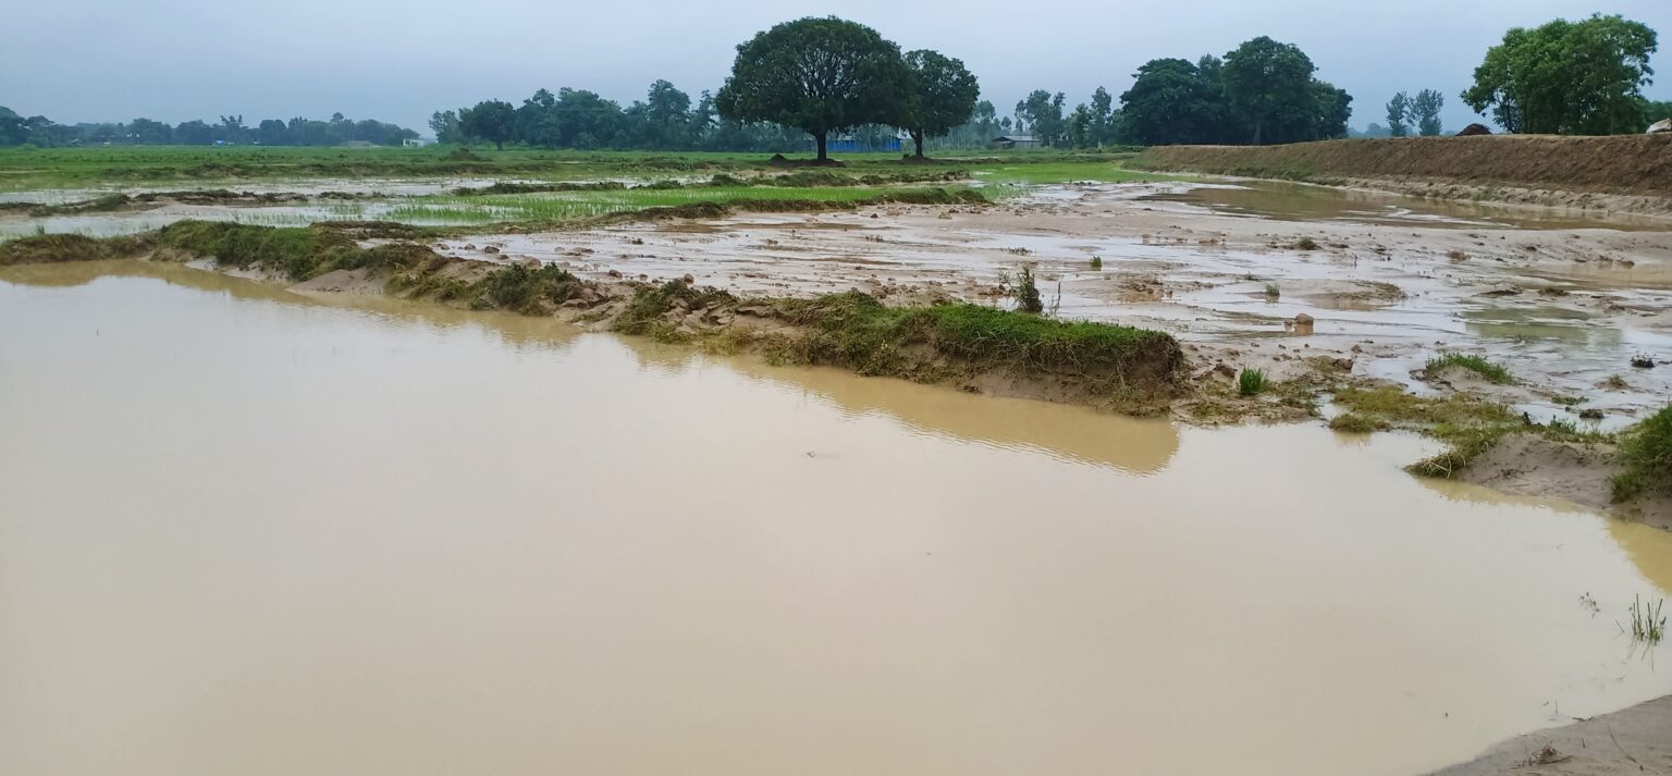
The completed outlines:
<svg viewBox="0 0 1672 776">
<path fill-rule="evenodd" d="M 1528 733 L 1430 776 L 1672 773 L 1672 696 Z"/>
</svg>

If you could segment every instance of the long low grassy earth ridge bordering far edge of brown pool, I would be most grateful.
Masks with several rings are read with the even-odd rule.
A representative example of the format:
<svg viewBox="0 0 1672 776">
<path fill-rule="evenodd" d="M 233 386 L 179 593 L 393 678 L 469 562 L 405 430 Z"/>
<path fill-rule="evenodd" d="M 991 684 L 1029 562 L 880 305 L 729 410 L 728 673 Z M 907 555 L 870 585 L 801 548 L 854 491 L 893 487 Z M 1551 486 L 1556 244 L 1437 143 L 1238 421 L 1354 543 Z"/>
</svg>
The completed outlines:
<svg viewBox="0 0 1672 776">
<path fill-rule="evenodd" d="M 398 224 L 264 227 L 182 221 L 132 237 L 48 234 L 0 244 L 0 266 L 149 258 L 211 259 L 224 269 L 311 289 L 383 291 L 413 299 L 555 314 L 660 341 L 759 351 L 782 363 L 846 366 L 925 383 L 1155 413 L 1179 388 L 1184 355 L 1164 333 L 1058 321 L 970 303 L 886 306 L 859 291 L 814 299 L 741 299 L 692 279 L 662 284 L 582 279 L 540 263 L 441 256 L 401 239 Z"/>
</svg>

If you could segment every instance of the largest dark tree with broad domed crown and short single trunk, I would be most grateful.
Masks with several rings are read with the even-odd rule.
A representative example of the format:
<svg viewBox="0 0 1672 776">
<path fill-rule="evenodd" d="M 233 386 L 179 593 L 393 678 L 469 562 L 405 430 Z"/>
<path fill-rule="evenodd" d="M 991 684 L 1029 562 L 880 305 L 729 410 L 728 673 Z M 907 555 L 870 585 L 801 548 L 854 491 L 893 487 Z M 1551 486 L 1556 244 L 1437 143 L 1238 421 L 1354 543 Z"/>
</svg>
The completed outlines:
<svg viewBox="0 0 1672 776">
<path fill-rule="evenodd" d="M 799 18 L 737 47 L 714 102 L 722 119 L 796 127 L 829 159 L 829 134 L 861 124 L 901 124 L 911 72 L 900 47 L 836 17 Z"/>
</svg>

